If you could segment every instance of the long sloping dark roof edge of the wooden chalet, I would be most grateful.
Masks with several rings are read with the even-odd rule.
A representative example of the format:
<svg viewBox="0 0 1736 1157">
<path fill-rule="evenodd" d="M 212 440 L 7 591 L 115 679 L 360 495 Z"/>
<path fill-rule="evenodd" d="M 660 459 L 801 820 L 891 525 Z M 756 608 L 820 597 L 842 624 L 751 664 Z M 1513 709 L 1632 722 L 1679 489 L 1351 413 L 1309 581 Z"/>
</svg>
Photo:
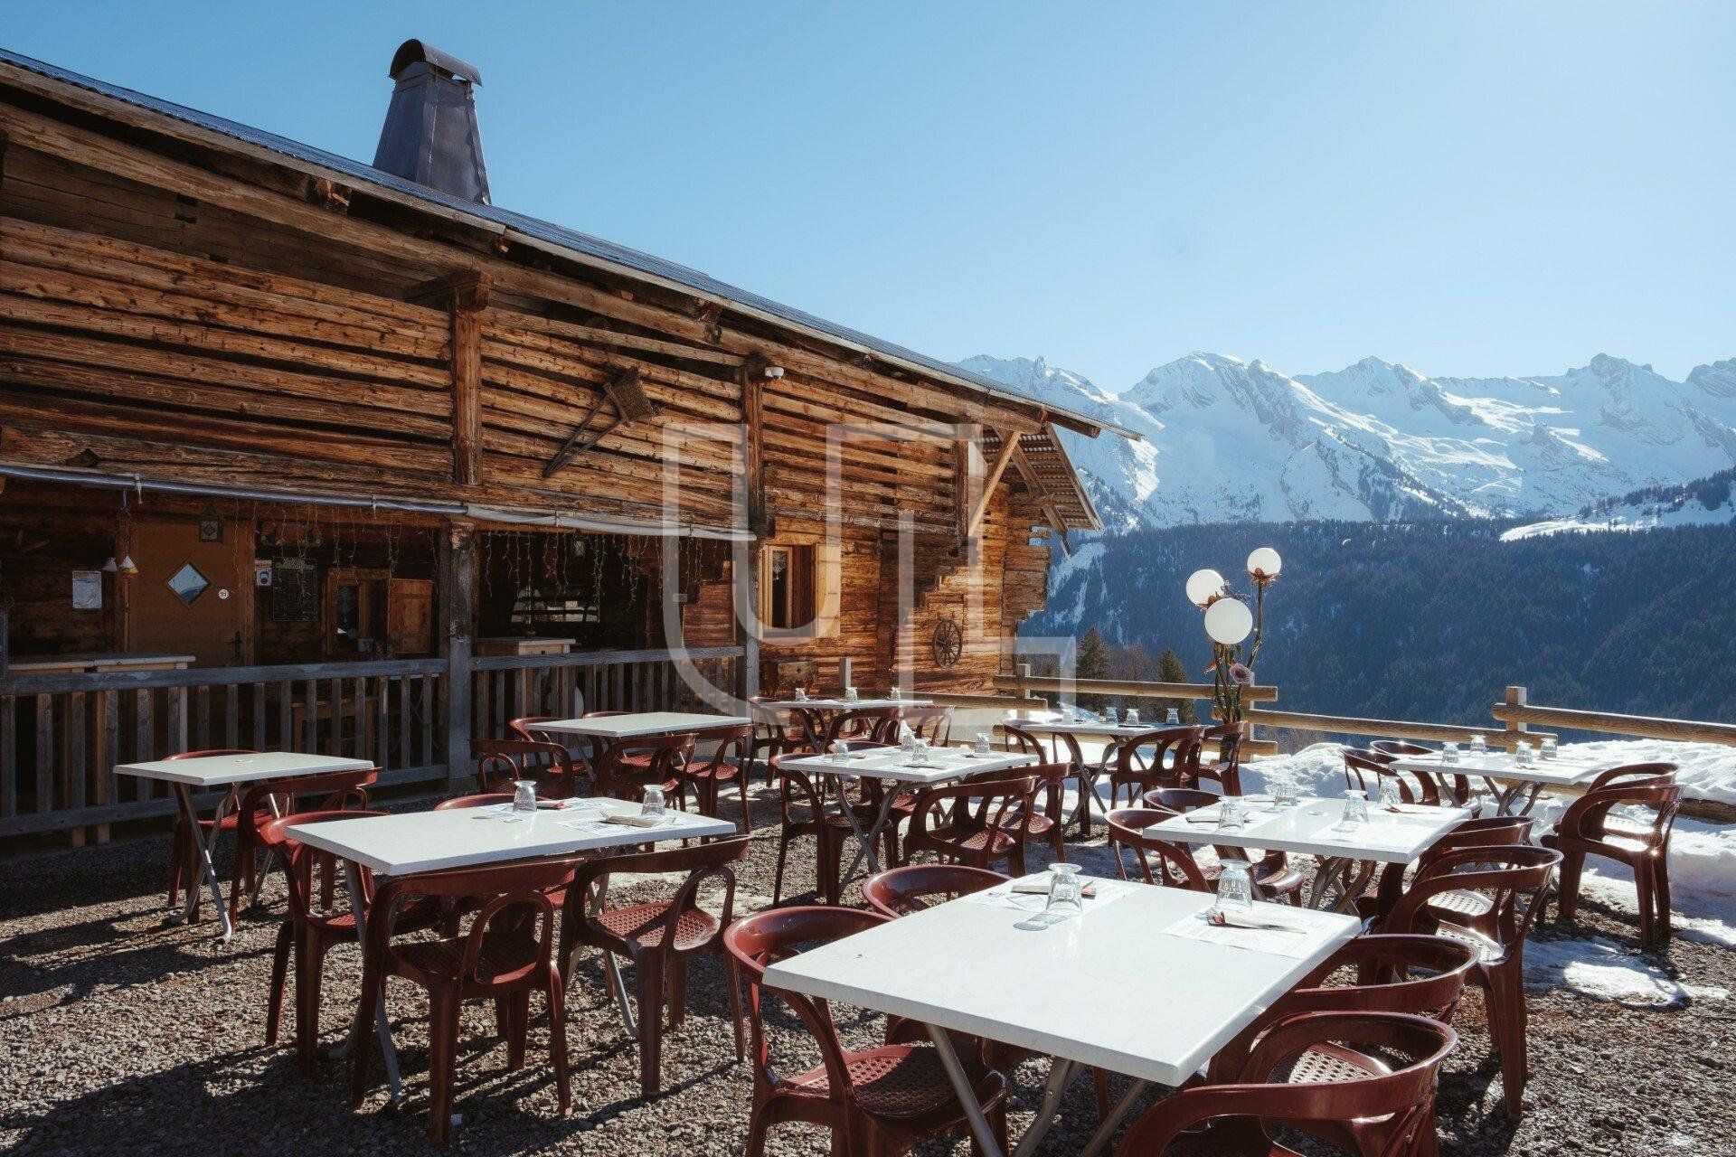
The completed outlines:
<svg viewBox="0 0 1736 1157">
<path fill-rule="evenodd" d="M 450 196 L 439 189 L 431 189 L 420 186 L 413 180 L 396 177 L 392 173 L 373 168 L 372 165 L 363 165 L 361 161 L 352 161 L 347 156 L 339 156 L 335 153 L 326 153 L 325 149 L 316 149 L 311 144 L 302 144 L 300 141 L 290 141 L 288 137 L 279 137 L 274 132 L 266 132 L 262 128 L 253 128 L 250 125 L 241 125 L 222 116 L 212 116 L 210 113 L 201 113 L 198 109 L 189 109 L 182 104 L 174 104 L 172 101 L 163 101 L 160 97 L 146 95 L 142 92 L 134 92 L 132 88 L 122 88 L 120 85 L 111 85 L 92 76 L 83 76 L 82 73 L 73 73 L 54 64 L 45 64 L 28 56 L 0 49 L 0 62 L 14 64 L 21 69 L 36 73 L 49 80 L 75 85 L 85 88 L 101 97 L 111 101 L 122 101 L 132 104 L 134 108 L 148 109 L 161 116 L 179 120 L 182 123 L 203 128 L 207 132 L 220 134 L 240 141 L 243 144 L 252 144 L 262 149 L 269 149 L 281 156 L 292 158 L 304 165 L 318 165 L 321 168 L 340 173 L 349 182 L 368 184 L 378 189 L 391 189 L 392 193 L 424 201 L 427 205 L 439 205 L 450 213 L 455 212 L 464 217 L 470 217 L 481 222 L 491 222 L 495 226 L 514 229 L 528 238 L 542 241 L 559 250 L 566 250 L 580 258 L 590 258 L 592 262 L 604 262 L 630 272 L 644 274 L 656 281 L 674 283 L 684 290 L 698 293 L 701 297 L 722 300 L 726 304 L 753 310 L 769 316 L 776 321 L 783 321 L 792 326 L 799 326 L 819 337 L 826 337 L 845 345 L 854 345 L 858 349 L 870 350 L 889 361 L 903 363 L 906 366 L 922 369 L 937 378 L 974 387 L 984 394 L 1010 402 L 1019 402 L 1024 406 L 1038 406 L 1052 415 L 1068 418 L 1068 425 L 1083 427 L 1087 430 L 1104 430 L 1111 428 L 1118 434 L 1127 434 L 1128 437 L 1137 437 L 1130 432 L 1118 430 L 1116 427 L 1106 427 L 1102 420 L 1092 418 L 1090 415 L 1082 415 L 1076 411 L 1050 406 L 1047 402 L 1036 402 L 1035 399 L 1009 390 L 1000 382 L 986 378 L 983 375 L 962 369 L 951 363 L 944 363 L 925 354 L 904 349 L 894 342 L 884 342 L 877 337 L 861 333 L 859 330 L 851 330 L 849 326 L 840 326 L 825 317 L 816 317 L 800 309 L 790 305 L 781 305 L 771 298 L 760 297 L 759 293 L 748 293 L 746 290 L 738 290 L 736 286 L 719 281 L 698 269 L 689 269 L 675 262 L 663 260 L 661 257 L 653 257 L 649 253 L 641 253 L 639 250 L 627 248 L 625 245 L 615 245 L 613 241 L 604 241 L 602 238 L 594 238 L 589 232 L 578 232 L 576 229 L 566 229 L 562 226 L 550 224 L 547 220 L 538 220 L 535 217 L 526 217 L 524 213 L 514 213 L 512 210 L 500 208 L 498 205 L 477 205 L 476 201 L 465 201 L 462 198 Z"/>
</svg>

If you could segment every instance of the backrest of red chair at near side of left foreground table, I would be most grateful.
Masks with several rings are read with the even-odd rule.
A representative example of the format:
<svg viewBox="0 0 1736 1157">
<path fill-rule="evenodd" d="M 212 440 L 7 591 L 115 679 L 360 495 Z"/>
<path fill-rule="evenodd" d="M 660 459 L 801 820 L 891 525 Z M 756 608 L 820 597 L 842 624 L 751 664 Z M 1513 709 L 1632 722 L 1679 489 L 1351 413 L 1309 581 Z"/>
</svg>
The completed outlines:
<svg viewBox="0 0 1736 1157">
<path fill-rule="evenodd" d="M 470 928 L 464 933 L 464 952 L 458 968 L 439 973 L 444 980 L 462 980 L 477 996 L 491 989 L 505 990 L 538 971 L 547 971 L 554 961 L 556 911 L 547 892 L 571 883 L 576 855 L 510 860 L 481 867 L 453 867 L 415 876 L 394 876 L 378 886 L 368 904 L 368 951 L 377 959 L 391 959 L 394 971 L 408 977 L 429 977 L 418 963 L 399 956 L 392 945 L 398 914 L 417 899 L 469 900 L 453 905 L 472 912 Z M 533 961 L 503 966 L 495 971 L 486 952 L 490 937 L 523 935 L 526 928 L 536 942 Z"/>
</svg>

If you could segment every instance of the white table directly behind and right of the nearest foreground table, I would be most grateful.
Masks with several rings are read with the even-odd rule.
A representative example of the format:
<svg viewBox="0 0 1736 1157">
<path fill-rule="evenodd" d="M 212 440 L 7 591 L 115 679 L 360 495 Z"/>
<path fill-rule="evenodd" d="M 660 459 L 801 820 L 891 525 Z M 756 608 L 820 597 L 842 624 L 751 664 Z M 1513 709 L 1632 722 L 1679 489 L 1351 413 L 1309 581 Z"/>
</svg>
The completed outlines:
<svg viewBox="0 0 1736 1157">
<path fill-rule="evenodd" d="M 1167 819 L 1146 829 L 1158 840 L 1177 843 L 1210 843 L 1226 848 L 1253 848 L 1260 852 L 1299 852 L 1319 862 L 1311 888 L 1311 902 L 1321 907 L 1330 885 L 1338 885 L 1335 905 L 1349 911 L 1371 869 L 1354 876 L 1358 864 L 1410 864 L 1432 848 L 1441 836 L 1470 819 L 1470 808 L 1427 807 L 1401 803 L 1397 812 L 1387 812 L 1378 801 L 1368 805 L 1368 822 L 1351 831 L 1333 831 L 1344 817 L 1344 800 L 1305 798 L 1290 808 L 1245 805 L 1241 827 L 1219 827 L 1222 805 L 1212 805 Z"/>
</svg>

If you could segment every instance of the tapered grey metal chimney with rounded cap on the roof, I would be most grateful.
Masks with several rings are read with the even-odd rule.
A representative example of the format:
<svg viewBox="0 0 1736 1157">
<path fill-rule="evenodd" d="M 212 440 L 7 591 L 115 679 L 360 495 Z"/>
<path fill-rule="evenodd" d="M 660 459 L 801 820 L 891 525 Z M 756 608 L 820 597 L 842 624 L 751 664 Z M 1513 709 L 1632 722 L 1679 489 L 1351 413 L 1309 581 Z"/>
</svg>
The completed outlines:
<svg viewBox="0 0 1736 1157">
<path fill-rule="evenodd" d="M 488 205 L 483 134 L 470 85 L 483 75 L 420 40 L 392 56 L 392 104 L 385 109 L 373 167 L 417 184 Z"/>
</svg>

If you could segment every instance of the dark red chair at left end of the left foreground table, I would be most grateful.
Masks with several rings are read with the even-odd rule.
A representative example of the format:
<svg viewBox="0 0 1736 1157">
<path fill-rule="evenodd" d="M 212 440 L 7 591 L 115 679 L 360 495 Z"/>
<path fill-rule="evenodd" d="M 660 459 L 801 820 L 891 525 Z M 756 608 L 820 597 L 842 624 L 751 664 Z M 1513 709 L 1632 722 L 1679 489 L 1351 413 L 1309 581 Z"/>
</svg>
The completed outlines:
<svg viewBox="0 0 1736 1157">
<path fill-rule="evenodd" d="M 271 958 L 271 987 L 266 996 L 266 1044 L 278 1043 L 283 1018 L 283 987 L 290 961 L 295 961 L 295 1069 L 302 1077 L 314 1075 L 319 1046 L 319 982 L 325 975 L 325 958 L 335 944 L 356 944 L 356 916 L 345 905 L 330 911 L 314 902 L 314 867 L 325 864 L 333 871 L 330 857 L 295 841 L 285 831 L 290 824 L 323 824 L 339 819 L 384 815 L 384 812 L 302 812 L 271 819 L 259 829 L 260 845 L 278 860 L 288 888 L 283 923 Z M 363 893 L 372 890 L 372 878 L 361 873 Z M 422 905 L 399 918 L 403 928 L 431 928 L 439 921 L 439 909 Z"/>
</svg>

